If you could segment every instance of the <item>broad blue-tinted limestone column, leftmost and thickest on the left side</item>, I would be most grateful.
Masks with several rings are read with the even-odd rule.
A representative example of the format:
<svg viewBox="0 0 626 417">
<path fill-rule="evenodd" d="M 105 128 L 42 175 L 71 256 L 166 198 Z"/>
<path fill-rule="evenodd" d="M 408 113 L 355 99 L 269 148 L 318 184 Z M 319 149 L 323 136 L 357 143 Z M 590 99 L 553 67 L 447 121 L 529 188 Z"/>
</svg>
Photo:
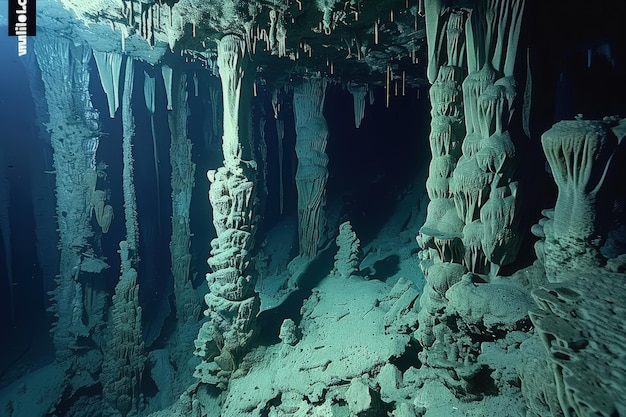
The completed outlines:
<svg viewBox="0 0 626 417">
<path fill-rule="evenodd" d="M 95 374 L 99 361 L 94 359 L 100 353 L 94 346 L 102 339 L 105 294 L 92 286 L 91 278 L 108 265 L 94 251 L 90 226 L 90 195 L 92 179 L 97 179 L 95 156 L 100 138 L 98 112 L 89 93 L 91 50 L 43 33 L 34 46 L 49 112 L 59 229 L 60 266 L 52 292 L 51 311 L 56 318 L 52 337 L 57 361 L 68 372 Z M 75 354 L 78 351 L 81 355 Z"/>
</svg>

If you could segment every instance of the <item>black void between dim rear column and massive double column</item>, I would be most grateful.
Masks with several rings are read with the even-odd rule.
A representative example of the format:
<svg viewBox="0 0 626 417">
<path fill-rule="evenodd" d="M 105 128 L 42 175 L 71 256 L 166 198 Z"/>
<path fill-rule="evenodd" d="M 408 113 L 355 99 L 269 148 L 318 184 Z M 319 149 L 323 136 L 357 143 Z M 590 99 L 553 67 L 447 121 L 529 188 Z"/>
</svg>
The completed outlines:
<svg viewBox="0 0 626 417">
<path fill-rule="evenodd" d="M 366 96 L 357 129 L 352 94 L 337 85 L 327 89 L 328 201 L 343 203 L 339 222 L 350 220 L 363 244 L 378 234 L 401 192 L 428 164 L 429 103 L 421 93 L 418 98 L 418 90 L 408 88 L 405 96 L 390 97 L 386 108 L 384 89 L 374 89 L 374 103 Z"/>
</svg>

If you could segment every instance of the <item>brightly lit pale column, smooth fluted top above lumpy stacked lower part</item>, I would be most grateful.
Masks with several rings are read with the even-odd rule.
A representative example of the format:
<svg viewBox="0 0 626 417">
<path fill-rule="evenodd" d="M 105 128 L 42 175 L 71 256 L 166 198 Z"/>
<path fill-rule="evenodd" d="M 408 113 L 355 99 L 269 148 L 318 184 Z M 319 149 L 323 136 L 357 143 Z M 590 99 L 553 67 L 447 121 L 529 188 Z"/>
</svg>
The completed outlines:
<svg viewBox="0 0 626 417">
<path fill-rule="evenodd" d="M 256 218 L 257 167 L 250 144 L 247 111 L 252 86 L 247 76 L 249 56 L 244 40 L 226 35 L 219 41 L 218 67 L 224 101 L 224 166 L 209 171 L 209 200 L 217 237 L 211 242 L 209 293 L 205 296 L 209 320 L 196 339 L 202 363 L 200 381 L 223 386 L 234 372 L 254 335 L 259 299 L 254 293 L 252 248 Z M 218 355 L 211 354 L 215 343 Z"/>
</svg>

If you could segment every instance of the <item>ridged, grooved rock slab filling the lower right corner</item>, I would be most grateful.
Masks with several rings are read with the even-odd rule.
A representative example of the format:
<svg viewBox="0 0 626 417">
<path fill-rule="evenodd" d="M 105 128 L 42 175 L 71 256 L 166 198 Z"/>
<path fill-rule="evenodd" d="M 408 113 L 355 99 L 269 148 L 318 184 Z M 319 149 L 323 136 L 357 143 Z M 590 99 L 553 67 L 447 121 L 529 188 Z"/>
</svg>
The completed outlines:
<svg viewBox="0 0 626 417">
<path fill-rule="evenodd" d="M 563 283 L 533 292 L 532 321 L 548 350 L 566 416 L 626 413 L 622 299 L 626 275 L 568 272 Z"/>
</svg>

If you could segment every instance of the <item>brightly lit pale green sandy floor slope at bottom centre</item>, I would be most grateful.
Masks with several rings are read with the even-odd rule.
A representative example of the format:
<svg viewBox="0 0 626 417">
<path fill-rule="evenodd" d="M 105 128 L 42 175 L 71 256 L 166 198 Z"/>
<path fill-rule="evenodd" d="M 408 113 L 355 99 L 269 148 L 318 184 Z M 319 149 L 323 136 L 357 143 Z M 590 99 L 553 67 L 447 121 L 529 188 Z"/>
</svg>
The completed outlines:
<svg viewBox="0 0 626 417">
<path fill-rule="evenodd" d="M 385 313 L 397 301 L 390 297 L 376 305 L 376 294 L 386 293 L 385 288 L 361 278 L 325 279 L 302 307 L 302 339 L 294 346 L 255 349 L 242 364 L 245 372 L 230 382 L 222 416 L 260 416 L 268 409 L 277 413 L 270 415 L 298 409 L 304 415 L 327 415 L 314 413 L 333 407 L 347 411 L 337 403 L 349 397 L 354 384 L 349 408 L 362 410 L 366 387 L 375 386 L 374 376 L 409 342 L 406 334 L 385 331 Z M 254 366 L 258 362 L 271 366 Z"/>
</svg>

